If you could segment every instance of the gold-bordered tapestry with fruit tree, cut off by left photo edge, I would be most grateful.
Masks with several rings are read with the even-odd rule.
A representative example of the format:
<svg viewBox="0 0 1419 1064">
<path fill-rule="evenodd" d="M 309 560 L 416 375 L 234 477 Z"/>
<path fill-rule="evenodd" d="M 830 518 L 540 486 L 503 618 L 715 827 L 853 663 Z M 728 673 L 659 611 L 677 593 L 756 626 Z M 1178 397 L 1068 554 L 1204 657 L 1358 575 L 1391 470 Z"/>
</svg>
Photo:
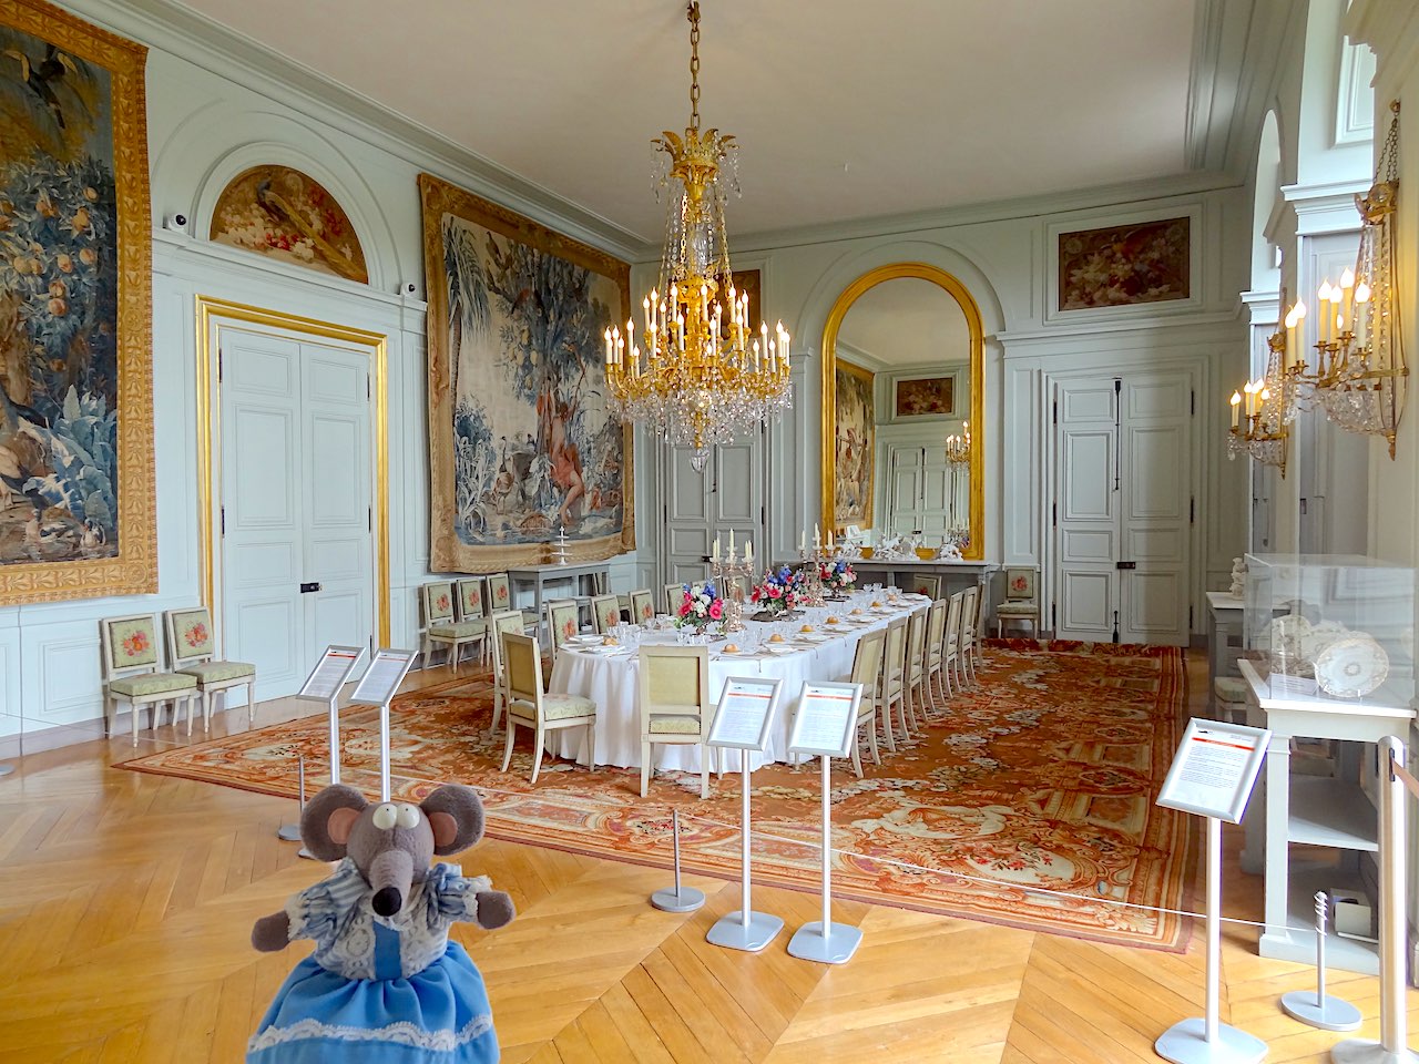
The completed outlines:
<svg viewBox="0 0 1419 1064">
<path fill-rule="evenodd" d="M 145 60 L 0 4 L 0 604 L 158 590 Z"/>
</svg>

